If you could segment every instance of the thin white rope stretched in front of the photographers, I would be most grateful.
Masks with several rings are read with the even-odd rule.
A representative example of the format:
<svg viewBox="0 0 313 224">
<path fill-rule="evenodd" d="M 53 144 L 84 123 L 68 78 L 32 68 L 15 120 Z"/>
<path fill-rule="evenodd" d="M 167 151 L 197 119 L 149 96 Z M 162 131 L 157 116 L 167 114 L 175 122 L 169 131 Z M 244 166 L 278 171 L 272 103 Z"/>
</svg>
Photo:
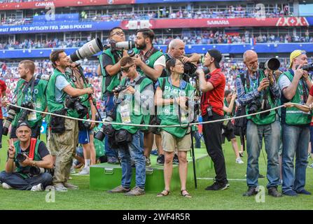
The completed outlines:
<svg viewBox="0 0 313 224">
<path fill-rule="evenodd" d="M 232 117 L 232 118 L 223 118 L 223 119 L 219 119 L 219 120 L 209 120 L 209 121 L 197 122 L 197 123 L 187 123 L 187 124 L 182 124 L 182 125 L 138 125 L 138 124 L 132 124 L 132 123 L 114 123 L 114 122 L 99 121 L 99 120 L 92 120 L 91 121 L 91 120 L 86 120 L 86 119 L 81 119 L 81 118 L 71 118 L 69 116 L 64 116 L 64 115 L 60 115 L 60 114 L 49 113 L 49 112 L 45 112 L 45 111 L 36 111 L 34 109 L 25 108 L 25 107 L 18 106 L 18 105 L 15 105 L 15 104 L 10 104 L 10 103 L 7 103 L 7 104 L 10 105 L 10 106 L 17 107 L 19 109 L 24 109 L 24 110 L 27 110 L 27 111 L 32 111 L 32 112 L 37 112 L 37 113 L 43 113 L 43 114 L 50 115 L 50 116 L 59 116 L 59 117 L 68 118 L 68 119 L 71 119 L 71 120 L 81 120 L 81 121 L 94 122 L 94 123 L 104 123 L 104 124 L 108 124 L 108 125 L 109 124 L 111 124 L 111 125 L 126 125 L 126 126 L 134 126 L 134 127 L 188 127 L 188 126 L 192 126 L 192 125 L 205 125 L 205 124 L 209 124 L 209 123 L 218 123 L 218 122 L 224 122 L 224 121 L 232 120 L 232 119 L 239 119 L 239 118 L 246 118 L 246 117 L 249 117 L 249 116 L 255 116 L 255 115 L 260 114 L 260 113 L 267 113 L 269 111 L 274 111 L 274 110 L 277 110 L 277 109 L 279 109 L 281 107 L 284 107 L 284 105 L 281 105 L 281 106 L 274 107 L 272 109 L 268 109 L 266 111 L 260 111 L 260 112 L 257 112 L 257 113 L 251 113 L 251 114 L 247 114 L 247 115 L 244 115 L 244 116 L 238 116 L 238 117 Z M 291 104 L 293 104 L 294 106 L 295 105 L 304 106 L 302 104 L 295 104 L 295 103 L 291 103 Z"/>
</svg>

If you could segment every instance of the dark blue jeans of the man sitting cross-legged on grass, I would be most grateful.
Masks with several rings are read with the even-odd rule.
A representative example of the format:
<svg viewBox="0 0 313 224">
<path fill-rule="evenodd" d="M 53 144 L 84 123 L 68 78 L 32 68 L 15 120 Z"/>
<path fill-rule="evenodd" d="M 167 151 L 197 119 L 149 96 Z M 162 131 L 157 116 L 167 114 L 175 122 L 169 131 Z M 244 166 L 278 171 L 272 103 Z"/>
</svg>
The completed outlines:
<svg viewBox="0 0 313 224">
<path fill-rule="evenodd" d="M 33 186 L 43 184 L 43 188 L 52 185 L 52 176 L 48 173 L 43 173 L 38 176 L 33 176 L 28 179 L 23 179 L 19 174 L 8 174 L 5 171 L 0 173 L 0 181 L 2 183 L 8 183 L 9 186 L 16 190 L 31 190 Z"/>
</svg>

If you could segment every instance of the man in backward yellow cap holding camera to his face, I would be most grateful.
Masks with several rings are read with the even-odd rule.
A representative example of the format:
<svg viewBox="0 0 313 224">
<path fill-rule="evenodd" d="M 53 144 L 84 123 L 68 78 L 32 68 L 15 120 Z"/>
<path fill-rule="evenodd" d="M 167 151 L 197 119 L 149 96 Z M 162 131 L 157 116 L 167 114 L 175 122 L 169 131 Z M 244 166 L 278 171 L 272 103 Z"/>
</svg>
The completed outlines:
<svg viewBox="0 0 313 224">
<path fill-rule="evenodd" d="M 306 104 L 309 89 L 312 87 L 307 66 L 307 55 L 303 50 L 294 50 L 290 55 L 289 70 L 279 77 L 282 92 L 281 104 L 286 102 Z M 303 69 L 302 69 L 303 68 Z M 305 172 L 307 168 L 307 148 L 309 146 L 309 124 L 312 112 L 300 111 L 297 106 L 281 109 L 282 125 L 282 193 L 296 196 L 311 195 L 305 190 Z M 293 161 L 295 157 L 295 170 Z"/>
</svg>

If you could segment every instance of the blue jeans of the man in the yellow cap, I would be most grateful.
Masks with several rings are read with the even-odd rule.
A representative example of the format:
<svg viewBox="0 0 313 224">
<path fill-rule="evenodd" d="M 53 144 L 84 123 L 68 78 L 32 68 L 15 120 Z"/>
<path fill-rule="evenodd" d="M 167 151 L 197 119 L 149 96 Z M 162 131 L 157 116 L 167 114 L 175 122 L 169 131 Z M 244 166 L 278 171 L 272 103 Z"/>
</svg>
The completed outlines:
<svg viewBox="0 0 313 224">
<path fill-rule="evenodd" d="M 288 190 L 301 191 L 305 188 L 309 127 L 283 125 L 282 177 L 283 193 Z M 295 170 L 293 159 L 295 158 Z"/>
</svg>

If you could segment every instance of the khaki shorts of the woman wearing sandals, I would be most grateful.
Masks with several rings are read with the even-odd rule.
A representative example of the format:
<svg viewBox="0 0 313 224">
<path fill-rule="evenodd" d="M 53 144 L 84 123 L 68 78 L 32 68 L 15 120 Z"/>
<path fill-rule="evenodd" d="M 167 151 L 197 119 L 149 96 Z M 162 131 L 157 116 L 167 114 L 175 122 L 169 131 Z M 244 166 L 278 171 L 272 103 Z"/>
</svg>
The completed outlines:
<svg viewBox="0 0 313 224">
<path fill-rule="evenodd" d="M 174 152 L 177 151 L 190 151 L 191 148 L 191 137 L 190 134 L 186 134 L 183 138 L 179 139 L 169 132 L 161 131 L 162 136 L 162 147 L 163 151 Z"/>
</svg>

